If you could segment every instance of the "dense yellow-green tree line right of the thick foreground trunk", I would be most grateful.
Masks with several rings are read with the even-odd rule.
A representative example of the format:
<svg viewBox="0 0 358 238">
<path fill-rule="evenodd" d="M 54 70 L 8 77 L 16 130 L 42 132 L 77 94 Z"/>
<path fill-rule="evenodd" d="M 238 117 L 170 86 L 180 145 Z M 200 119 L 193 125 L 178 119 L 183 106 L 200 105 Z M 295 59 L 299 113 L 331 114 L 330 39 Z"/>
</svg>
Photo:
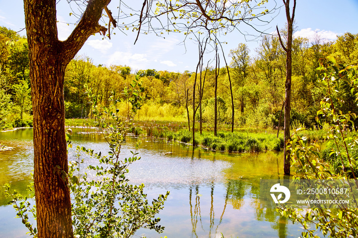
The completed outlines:
<svg viewBox="0 0 358 238">
<path fill-rule="evenodd" d="M 292 49 L 292 112 L 291 122 L 294 127 L 304 125 L 308 128 L 317 127 L 316 112 L 320 108 L 322 88 L 317 83 L 316 68 L 319 59 L 332 54 L 342 65 L 357 63 L 354 52 L 358 50 L 358 35 L 346 33 L 334 42 L 325 41 L 317 36 L 313 41 L 296 37 Z M 276 36 L 265 36 L 256 54 L 250 55 L 250 49 L 239 43 L 230 51 L 230 73 L 234 93 L 235 126 L 251 126 L 270 128 L 279 125 L 282 105 L 284 102 L 285 85 L 285 52 L 281 49 Z M 100 95 L 100 103 L 107 106 L 113 91 L 119 94 L 128 86 L 137 74 L 143 81 L 146 102 L 139 113 L 139 120 L 153 118 L 192 118 L 192 93 L 195 73 L 174 73 L 156 71 L 155 69 L 139 70 L 130 73 L 129 66 L 95 66 L 90 59 L 77 58 L 71 61 L 66 71 L 65 100 L 66 117 L 83 117 L 89 110 L 83 85 L 94 88 Z M 197 74 L 200 74 L 198 72 Z M 203 90 L 202 120 L 214 123 L 214 88 L 215 68 L 209 66 L 202 70 L 205 75 Z M 354 98 L 342 85 L 342 100 L 346 102 L 342 111 L 356 110 Z M 198 87 L 198 86 L 197 86 Z M 196 98 L 199 97 L 196 90 Z M 217 86 L 218 122 L 231 123 L 231 97 L 229 78 L 226 67 L 218 73 Z M 87 108 L 87 109 L 86 109 Z M 125 107 L 123 107 L 125 113 Z M 196 115 L 199 121 L 199 113 Z M 283 126 L 283 115 L 281 116 Z"/>
</svg>

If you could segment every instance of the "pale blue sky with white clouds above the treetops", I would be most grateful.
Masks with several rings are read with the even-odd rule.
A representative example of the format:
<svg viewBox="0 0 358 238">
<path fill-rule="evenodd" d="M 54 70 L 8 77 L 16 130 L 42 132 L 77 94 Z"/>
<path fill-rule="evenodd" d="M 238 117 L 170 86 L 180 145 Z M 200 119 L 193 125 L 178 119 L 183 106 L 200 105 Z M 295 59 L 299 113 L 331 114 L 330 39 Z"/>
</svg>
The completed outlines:
<svg viewBox="0 0 358 238">
<path fill-rule="evenodd" d="M 142 0 L 132 0 L 131 3 L 140 8 L 143 2 Z M 269 3 L 273 4 L 273 1 L 269 0 Z M 278 6 L 283 4 L 281 0 L 276 0 L 276 3 Z M 118 1 L 112 1 L 108 7 L 112 12 L 116 12 L 118 11 L 117 6 Z M 76 12 L 76 9 L 73 10 Z M 66 39 L 74 28 L 73 24 L 68 25 L 67 23 L 75 23 L 78 20 L 74 15 L 70 15 L 70 12 L 72 10 L 68 1 L 59 0 L 57 3 L 57 29 L 60 40 Z M 284 28 L 286 23 L 284 8 L 281 8 L 275 15 L 276 17 L 269 25 L 260 29 L 272 33 L 276 26 L 279 29 Z M 295 36 L 312 39 L 319 35 L 325 40 L 335 40 L 337 35 L 343 35 L 346 32 L 356 34 L 358 33 L 357 16 L 358 0 L 297 0 Z M 25 28 L 23 1 L 0 0 L 0 26 L 14 31 Z M 242 26 L 242 30 L 249 34 L 257 34 L 244 26 Z M 103 39 L 99 33 L 90 36 L 77 56 L 89 57 L 95 65 L 127 65 L 132 68 L 132 73 L 148 68 L 181 73 L 185 70 L 195 71 L 198 60 L 197 45 L 190 39 L 187 39 L 184 45 L 183 33 L 165 34 L 165 38 L 155 34 L 141 34 L 136 44 L 133 44 L 137 36 L 136 32 L 129 30 L 124 34 L 115 29 L 115 33 L 116 35 L 111 35 L 111 39 Z M 21 31 L 19 34 L 26 35 L 25 31 Z M 247 43 L 253 57 L 256 54 L 255 49 L 259 46 L 259 41 L 246 41 L 238 31 L 222 36 L 220 40 L 227 42 L 227 44 L 223 44 L 223 50 L 228 61 L 230 61 L 229 51 L 235 49 L 239 43 Z M 204 61 L 211 60 L 213 55 L 206 54 Z"/>
</svg>

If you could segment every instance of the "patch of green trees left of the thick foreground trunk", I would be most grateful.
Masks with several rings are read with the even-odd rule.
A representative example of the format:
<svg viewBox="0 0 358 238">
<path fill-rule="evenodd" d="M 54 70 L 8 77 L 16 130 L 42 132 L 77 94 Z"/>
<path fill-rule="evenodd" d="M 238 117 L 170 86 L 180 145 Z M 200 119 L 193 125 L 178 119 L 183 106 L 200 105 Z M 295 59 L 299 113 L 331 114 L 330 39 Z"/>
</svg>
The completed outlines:
<svg viewBox="0 0 358 238">
<path fill-rule="evenodd" d="M 28 44 L 0 27 L 0 129 L 32 126 Z"/>
</svg>

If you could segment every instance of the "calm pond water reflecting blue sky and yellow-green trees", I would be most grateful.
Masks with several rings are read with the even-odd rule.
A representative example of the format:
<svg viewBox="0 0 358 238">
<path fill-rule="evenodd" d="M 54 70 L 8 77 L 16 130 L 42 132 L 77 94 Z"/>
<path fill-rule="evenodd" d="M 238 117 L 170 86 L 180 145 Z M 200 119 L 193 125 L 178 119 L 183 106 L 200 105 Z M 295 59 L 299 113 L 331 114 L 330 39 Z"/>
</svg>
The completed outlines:
<svg viewBox="0 0 358 238">
<path fill-rule="evenodd" d="M 107 152 L 103 135 L 93 132 L 73 129 L 69 160 L 75 159 L 78 145 L 102 154 Z M 297 225 L 288 224 L 279 216 L 273 202 L 258 199 L 260 179 L 283 178 L 281 153 L 217 153 L 192 150 L 175 141 L 141 139 L 142 158 L 131 164 L 127 177 L 133 184 L 144 183 L 149 199 L 166 191 L 170 195 L 159 214 L 160 224 L 166 227 L 164 233 L 140 229 L 136 235 L 220 237 L 222 233 L 226 237 L 297 237 L 301 234 Z M 128 138 L 122 149 L 123 158 L 130 155 L 137 140 Z M 2 132 L 0 142 L 15 148 L 0 152 L 0 185 L 11 181 L 11 186 L 23 193 L 33 170 L 32 130 Z M 84 166 L 96 163 L 94 158 L 85 157 Z M 1 194 L 0 230 L 18 235 L 17 229 L 22 230 L 23 225 L 19 219 L 13 219 L 15 212 L 6 201 Z M 6 220 L 12 223 L 4 225 Z M 25 233 L 16 237 L 26 237 Z"/>
</svg>

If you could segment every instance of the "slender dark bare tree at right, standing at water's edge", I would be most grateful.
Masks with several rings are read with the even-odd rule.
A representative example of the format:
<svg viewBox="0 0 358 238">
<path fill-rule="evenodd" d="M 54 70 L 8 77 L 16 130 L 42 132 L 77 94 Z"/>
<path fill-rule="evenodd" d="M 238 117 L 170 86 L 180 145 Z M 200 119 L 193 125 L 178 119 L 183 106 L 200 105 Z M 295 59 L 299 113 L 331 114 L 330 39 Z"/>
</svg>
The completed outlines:
<svg viewBox="0 0 358 238">
<path fill-rule="evenodd" d="M 290 151 L 287 150 L 287 142 L 290 139 L 289 134 L 289 113 L 291 110 L 291 76 L 292 76 L 292 35 L 293 35 L 293 23 L 295 18 L 296 0 L 294 0 L 294 7 L 292 9 L 292 15 L 289 11 L 289 0 L 282 0 L 286 9 L 287 18 L 287 46 L 283 44 L 278 27 L 276 27 L 281 46 L 286 52 L 286 83 L 285 83 L 285 113 L 284 113 L 284 174 L 290 174 L 291 156 Z"/>
</svg>

